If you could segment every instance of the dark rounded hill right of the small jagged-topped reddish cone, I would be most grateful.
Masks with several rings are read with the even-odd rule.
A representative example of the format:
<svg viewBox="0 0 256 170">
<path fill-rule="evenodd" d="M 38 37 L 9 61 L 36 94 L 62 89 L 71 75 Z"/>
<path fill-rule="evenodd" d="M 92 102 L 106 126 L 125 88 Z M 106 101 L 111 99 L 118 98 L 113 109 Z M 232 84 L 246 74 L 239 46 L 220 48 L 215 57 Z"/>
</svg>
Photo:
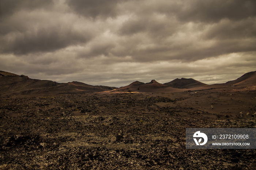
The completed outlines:
<svg viewBox="0 0 256 170">
<path fill-rule="evenodd" d="M 166 86 L 170 86 L 172 88 L 179 88 L 179 89 L 190 89 L 196 87 L 203 87 L 208 86 L 200 81 L 194 80 L 193 78 L 176 78 L 173 81 L 164 83 Z"/>
</svg>

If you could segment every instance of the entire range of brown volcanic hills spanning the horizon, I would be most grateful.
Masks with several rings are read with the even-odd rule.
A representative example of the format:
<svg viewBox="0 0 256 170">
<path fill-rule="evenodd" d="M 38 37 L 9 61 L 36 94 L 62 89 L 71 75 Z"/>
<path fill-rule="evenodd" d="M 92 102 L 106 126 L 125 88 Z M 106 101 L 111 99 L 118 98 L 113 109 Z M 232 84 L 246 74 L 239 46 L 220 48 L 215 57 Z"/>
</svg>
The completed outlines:
<svg viewBox="0 0 256 170">
<path fill-rule="evenodd" d="M 223 84 L 207 85 L 202 82 L 196 81 L 192 78 L 176 78 L 173 81 L 161 84 L 155 80 L 151 80 L 148 83 L 135 81 L 131 84 L 115 88 L 109 86 L 93 86 L 84 84 L 82 82 L 72 81 L 68 83 L 58 83 L 50 80 L 37 80 L 29 78 L 24 75 L 17 75 L 14 73 L 0 71 L 0 95 L 54 95 L 54 94 L 70 94 L 79 92 L 181 92 L 188 89 L 202 90 L 207 88 L 225 88 L 228 86 L 237 86 L 237 88 L 243 89 L 256 84 L 256 71 L 249 72 L 233 81 L 228 81 Z"/>
</svg>

